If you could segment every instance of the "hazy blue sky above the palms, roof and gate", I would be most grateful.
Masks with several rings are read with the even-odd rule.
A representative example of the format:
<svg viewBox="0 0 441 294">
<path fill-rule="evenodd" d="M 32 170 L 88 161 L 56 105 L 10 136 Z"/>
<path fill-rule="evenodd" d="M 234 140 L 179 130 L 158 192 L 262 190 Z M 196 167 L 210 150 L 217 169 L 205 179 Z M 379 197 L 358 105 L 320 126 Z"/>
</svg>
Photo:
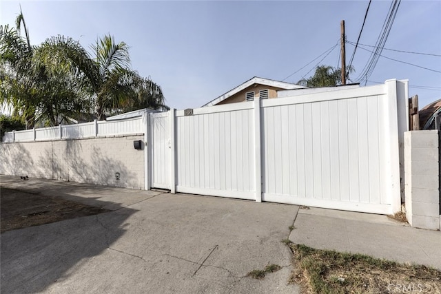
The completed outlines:
<svg viewBox="0 0 441 294">
<path fill-rule="evenodd" d="M 253 76 L 282 81 L 339 43 L 341 20 L 347 40 L 355 43 L 368 3 L 2 0 L 0 24 L 13 25 L 21 4 L 32 44 L 61 34 L 89 48 L 110 33 L 130 45 L 132 68 L 161 85 L 167 105 L 184 109 L 200 107 Z M 390 6 L 391 1 L 372 1 L 361 44 L 375 45 Z M 441 1 L 403 0 L 384 47 L 441 55 L 440 15 Z M 353 49 L 348 43 L 347 63 Z M 366 49 L 371 50 L 356 51 L 353 78 L 367 64 Z M 340 66 L 339 55 L 338 45 L 320 64 Z M 418 94 L 420 107 L 441 98 L 440 56 L 389 50 L 382 55 L 438 72 L 380 57 L 367 85 L 409 79 L 409 94 Z M 311 76 L 322 57 L 285 81 Z"/>
</svg>

